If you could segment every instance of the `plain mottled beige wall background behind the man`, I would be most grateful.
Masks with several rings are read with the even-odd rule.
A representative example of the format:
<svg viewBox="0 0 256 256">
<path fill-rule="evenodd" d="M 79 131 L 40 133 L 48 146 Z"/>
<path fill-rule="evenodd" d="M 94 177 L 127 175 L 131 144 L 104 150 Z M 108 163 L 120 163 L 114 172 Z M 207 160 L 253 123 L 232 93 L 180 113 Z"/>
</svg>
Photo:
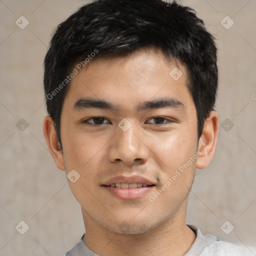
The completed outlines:
<svg viewBox="0 0 256 256">
<path fill-rule="evenodd" d="M 197 170 L 187 223 L 220 239 L 256 246 L 256 1 L 181 2 L 194 8 L 217 37 L 217 111 L 220 124 L 226 118 L 234 124 L 229 131 L 220 125 L 212 162 Z M 84 232 L 79 205 L 42 133 L 42 64 L 50 34 L 83 3 L 0 1 L 0 255 L 58 255 Z M 21 15 L 29 21 L 24 29 L 15 24 Z M 226 15 L 234 21 L 229 29 L 220 23 Z M 16 127 L 21 118 L 29 124 L 23 131 Z M 15 229 L 21 220 L 29 226 L 23 235 Z M 234 226 L 229 234 L 220 228 L 226 220 Z"/>
</svg>

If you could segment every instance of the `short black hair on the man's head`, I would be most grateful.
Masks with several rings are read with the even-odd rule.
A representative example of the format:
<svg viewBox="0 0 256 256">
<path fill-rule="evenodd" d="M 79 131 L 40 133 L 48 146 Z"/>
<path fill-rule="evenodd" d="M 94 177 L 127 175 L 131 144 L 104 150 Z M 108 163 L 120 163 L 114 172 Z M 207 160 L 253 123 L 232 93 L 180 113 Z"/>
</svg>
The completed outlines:
<svg viewBox="0 0 256 256">
<path fill-rule="evenodd" d="M 111 57 L 142 48 L 160 49 L 186 67 L 199 139 L 218 87 L 214 39 L 194 9 L 175 1 L 95 0 L 81 6 L 57 26 L 44 59 L 46 107 L 60 145 L 61 109 L 75 63 L 84 65 L 92 52 Z"/>
</svg>

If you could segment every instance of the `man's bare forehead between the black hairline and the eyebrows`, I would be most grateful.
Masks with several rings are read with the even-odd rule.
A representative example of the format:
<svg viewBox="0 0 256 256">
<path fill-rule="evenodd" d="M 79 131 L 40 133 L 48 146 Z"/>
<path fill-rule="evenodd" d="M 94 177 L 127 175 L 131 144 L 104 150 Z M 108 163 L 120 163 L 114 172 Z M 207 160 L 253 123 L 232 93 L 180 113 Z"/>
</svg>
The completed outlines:
<svg viewBox="0 0 256 256">
<path fill-rule="evenodd" d="M 82 97 L 107 99 L 124 108 L 167 96 L 189 103 L 186 84 L 186 69 L 178 60 L 167 61 L 161 51 L 143 49 L 90 59 L 70 81 L 65 100 L 74 104 Z"/>
</svg>

